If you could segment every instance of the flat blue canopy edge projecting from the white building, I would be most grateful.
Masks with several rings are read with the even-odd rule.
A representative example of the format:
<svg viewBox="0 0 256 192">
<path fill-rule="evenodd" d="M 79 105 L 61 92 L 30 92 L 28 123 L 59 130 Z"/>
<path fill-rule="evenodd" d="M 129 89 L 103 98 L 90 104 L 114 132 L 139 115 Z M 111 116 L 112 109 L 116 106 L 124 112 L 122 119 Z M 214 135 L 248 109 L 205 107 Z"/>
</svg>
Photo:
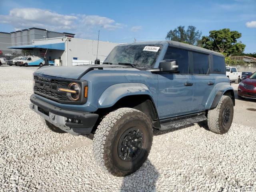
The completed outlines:
<svg viewBox="0 0 256 192">
<path fill-rule="evenodd" d="M 20 45 L 20 46 L 10 46 L 8 48 L 9 49 L 24 49 L 24 50 L 31 50 L 33 48 L 65 50 L 65 43 L 38 44 L 38 45 Z"/>
</svg>

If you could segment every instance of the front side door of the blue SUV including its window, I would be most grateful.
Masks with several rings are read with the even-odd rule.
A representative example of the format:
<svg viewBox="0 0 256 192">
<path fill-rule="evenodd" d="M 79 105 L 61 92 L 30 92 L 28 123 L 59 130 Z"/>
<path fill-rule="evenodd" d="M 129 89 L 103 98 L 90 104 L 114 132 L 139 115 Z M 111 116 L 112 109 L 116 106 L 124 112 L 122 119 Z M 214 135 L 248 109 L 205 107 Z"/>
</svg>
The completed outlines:
<svg viewBox="0 0 256 192">
<path fill-rule="evenodd" d="M 194 111 L 194 80 L 189 74 L 189 52 L 168 47 L 165 59 L 176 59 L 179 73 L 158 74 L 158 113 L 162 119 Z"/>
</svg>

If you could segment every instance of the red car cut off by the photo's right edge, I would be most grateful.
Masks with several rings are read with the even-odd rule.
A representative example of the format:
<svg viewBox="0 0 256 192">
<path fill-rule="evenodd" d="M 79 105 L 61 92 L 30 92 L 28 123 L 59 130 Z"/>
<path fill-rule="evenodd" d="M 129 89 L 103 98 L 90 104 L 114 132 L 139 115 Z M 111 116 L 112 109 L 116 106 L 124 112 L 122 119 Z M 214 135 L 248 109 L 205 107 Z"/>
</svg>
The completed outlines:
<svg viewBox="0 0 256 192">
<path fill-rule="evenodd" d="M 256 99 L 256 72 L 240 82 L 238 86 L 238 98 Z"/>
</svg>

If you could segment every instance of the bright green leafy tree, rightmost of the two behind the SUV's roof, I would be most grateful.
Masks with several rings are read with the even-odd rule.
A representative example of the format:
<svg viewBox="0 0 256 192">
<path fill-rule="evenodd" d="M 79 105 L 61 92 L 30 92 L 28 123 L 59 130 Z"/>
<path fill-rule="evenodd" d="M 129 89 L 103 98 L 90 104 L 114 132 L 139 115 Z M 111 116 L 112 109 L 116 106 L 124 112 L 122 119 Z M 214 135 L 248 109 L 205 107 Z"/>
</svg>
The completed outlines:
<svg viewBox="0 0 256 192">
<path fill-rule="evenodd" d="M 238 42 L 242 36 L 238 31 L 230 29 L 213 30 L 209 36 L 202 37 L 202 47 L 220 52 L 226 57 L 234 54 L 241 54 L 244 51 L 245 44 Z"/>
</svg>

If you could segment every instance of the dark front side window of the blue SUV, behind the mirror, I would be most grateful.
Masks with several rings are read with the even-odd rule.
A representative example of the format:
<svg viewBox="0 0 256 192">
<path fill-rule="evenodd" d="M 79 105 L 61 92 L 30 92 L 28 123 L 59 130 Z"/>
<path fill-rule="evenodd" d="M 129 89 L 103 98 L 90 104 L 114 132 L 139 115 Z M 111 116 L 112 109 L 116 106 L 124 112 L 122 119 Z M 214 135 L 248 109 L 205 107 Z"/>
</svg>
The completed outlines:
<svg viewBox="0 0 256 192">
<path fill-rule="evenodd" d="M 178 60 L 178 71 L 180 72 L 180 74 L 188 74 L 188 51 L 168 47 L 164 56 L 164 60 L 165 59 Z"/>
</svg>

